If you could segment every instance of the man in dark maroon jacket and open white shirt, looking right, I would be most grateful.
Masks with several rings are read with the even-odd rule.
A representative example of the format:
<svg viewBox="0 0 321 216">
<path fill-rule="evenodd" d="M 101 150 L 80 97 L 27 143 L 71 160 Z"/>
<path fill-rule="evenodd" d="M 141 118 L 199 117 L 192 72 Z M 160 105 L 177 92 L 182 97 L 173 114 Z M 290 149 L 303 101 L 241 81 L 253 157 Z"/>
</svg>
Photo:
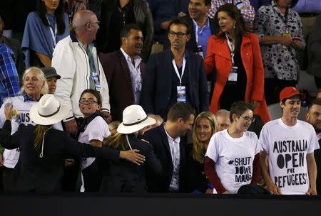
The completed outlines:
<svg viewBox="0 0 321 216">
<path fill-rule="evenodd" d="M 136 24 L 127 24 L 121 31 L 121 49 L 99 55 L 109 87 L 113 120 L 122 121 L 123 109 L 138 104 L 141 95 L 141 61 L 143 33 Z"/>
</svg>

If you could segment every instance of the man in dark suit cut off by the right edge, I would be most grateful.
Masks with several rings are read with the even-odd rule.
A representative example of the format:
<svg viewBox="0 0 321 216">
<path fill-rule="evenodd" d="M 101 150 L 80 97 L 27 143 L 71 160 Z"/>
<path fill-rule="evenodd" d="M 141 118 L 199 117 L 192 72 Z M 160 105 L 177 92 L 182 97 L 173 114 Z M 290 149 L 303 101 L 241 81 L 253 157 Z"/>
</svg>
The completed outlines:
<svg viewBox="0 0 321 216">
<path fill-rule="evenodd" d="M 312 124 L 321 146 L 321 99 L 315 99 L 309 105 L 305 119 Z M 315 150 L 315 163 L 317 163 L 317 194 L 321 193 L 321 149 Z"/>
</svg>

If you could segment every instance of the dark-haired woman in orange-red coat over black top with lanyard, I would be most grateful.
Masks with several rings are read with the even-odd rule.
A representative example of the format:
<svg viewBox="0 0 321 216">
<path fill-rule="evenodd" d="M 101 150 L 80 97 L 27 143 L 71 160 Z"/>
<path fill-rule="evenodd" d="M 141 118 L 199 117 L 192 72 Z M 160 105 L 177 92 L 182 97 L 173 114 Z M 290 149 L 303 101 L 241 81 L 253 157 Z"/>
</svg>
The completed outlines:
<svg viewBox="0 0 321 216">
<path fill-rule="evenodd" d="M 270 121 L 258 36 L 246 31 L 245 20 L 234 4 L 220 6 L 216 17 L 220 32 L 208 39 L 204 60 L 206 73 L 216 73 L 210 111 L 230 109 L 233 102 L 245 100 L 253 104 L 263 121 Z"/>
</svg>

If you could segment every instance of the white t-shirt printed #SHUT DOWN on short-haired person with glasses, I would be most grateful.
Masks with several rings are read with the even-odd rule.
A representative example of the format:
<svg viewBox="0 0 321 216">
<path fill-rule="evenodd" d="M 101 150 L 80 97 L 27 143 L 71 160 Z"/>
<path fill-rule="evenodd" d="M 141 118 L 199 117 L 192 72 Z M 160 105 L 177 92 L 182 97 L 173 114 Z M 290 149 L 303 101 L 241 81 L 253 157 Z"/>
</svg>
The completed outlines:
<svg viewBox="0 0 321 216">
<path fill-rule="evenodd" d="M 253 161 L 260 150 L 255 133 L 245 131 L 242 137 L 233 138 L 225 129 L 212 136 L 205 156 L 215 162 L 215 171 L 228 193 L 237 193 L 240 186 L 251 183 Z"/>
</svg>

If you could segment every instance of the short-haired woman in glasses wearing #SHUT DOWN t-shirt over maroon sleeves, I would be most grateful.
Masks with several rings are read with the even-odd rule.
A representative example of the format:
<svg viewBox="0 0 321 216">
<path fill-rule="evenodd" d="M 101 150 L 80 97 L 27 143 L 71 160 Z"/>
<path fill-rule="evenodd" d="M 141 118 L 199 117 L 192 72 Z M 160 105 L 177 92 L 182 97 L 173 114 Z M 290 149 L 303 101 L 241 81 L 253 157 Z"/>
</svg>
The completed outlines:
<svg viewBox="0 0 321 216">
<path fill-rule="evenodd" d="M 214 193 L 237 193 L 238 188 L 260 181 L 258 136 L 248 131 L 255 119 L 246 102 L 234 102 L 230 109 L 231 125 L 212 136 L 205 154 L 205 174 Z"/>
</svg>

